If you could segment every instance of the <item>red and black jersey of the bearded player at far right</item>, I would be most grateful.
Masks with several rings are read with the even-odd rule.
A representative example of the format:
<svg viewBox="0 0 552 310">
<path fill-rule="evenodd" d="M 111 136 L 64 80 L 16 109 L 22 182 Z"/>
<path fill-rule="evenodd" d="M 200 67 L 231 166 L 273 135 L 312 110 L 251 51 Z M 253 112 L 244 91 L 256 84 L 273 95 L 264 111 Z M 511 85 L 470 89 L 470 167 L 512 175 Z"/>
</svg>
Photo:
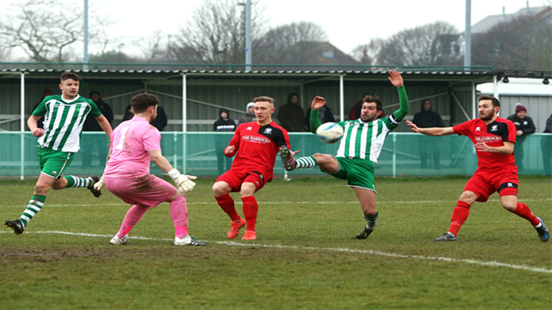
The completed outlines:
<svg viewBox="0 0 552 310">
<path fill-rule="evenodd" d="M 486 125 L 482 119 L 472 119 L 460 125 L 453 126 L 458 135 L 466 135 L 475 145 L 477 142 L 484 142 L 488 146 L 504 146 L 504 142 L 515 143 L 515 125 L 508 119 L 497 117 L 494 122 Z M 490 152 L 477 152 L 477 170 L 504 170 L 515 169 L 513 154 L 500 154 Z"/>
</svg>

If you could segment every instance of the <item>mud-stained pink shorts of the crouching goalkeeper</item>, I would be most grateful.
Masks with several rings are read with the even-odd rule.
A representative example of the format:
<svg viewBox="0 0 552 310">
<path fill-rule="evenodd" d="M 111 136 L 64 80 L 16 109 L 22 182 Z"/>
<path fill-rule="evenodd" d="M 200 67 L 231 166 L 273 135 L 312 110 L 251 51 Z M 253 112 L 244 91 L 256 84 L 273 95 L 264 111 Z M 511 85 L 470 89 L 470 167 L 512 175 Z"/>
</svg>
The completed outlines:
<svg viewBox="0 0 552 310">
<path fill-rule="evenodd" d="M 155 175 L 143 177 L 105 177 L 106 187 L 127 204 L 157 206 L 177 192 L 175 186 Z"/>
</svg>

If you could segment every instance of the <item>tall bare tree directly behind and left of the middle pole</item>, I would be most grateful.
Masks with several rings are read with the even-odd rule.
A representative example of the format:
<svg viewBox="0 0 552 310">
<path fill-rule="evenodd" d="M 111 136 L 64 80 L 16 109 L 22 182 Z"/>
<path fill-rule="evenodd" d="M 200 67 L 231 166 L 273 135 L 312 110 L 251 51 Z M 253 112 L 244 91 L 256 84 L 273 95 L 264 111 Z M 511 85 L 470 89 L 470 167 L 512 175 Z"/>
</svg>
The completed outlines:
<svg viewBox="0 0 552 310">
<path fill-rule="evenodd" d="M 253 39 L 260 30 L 256 19 L 258 10 L 255 13 L 251 21 Z M 244 9 L 235 1 L 207 0 L 195 10 L 192 21 L 175 35 L 173 41 L 169 48 L 172 61 L 188 64 L 243 64 Z"/>
</svg>

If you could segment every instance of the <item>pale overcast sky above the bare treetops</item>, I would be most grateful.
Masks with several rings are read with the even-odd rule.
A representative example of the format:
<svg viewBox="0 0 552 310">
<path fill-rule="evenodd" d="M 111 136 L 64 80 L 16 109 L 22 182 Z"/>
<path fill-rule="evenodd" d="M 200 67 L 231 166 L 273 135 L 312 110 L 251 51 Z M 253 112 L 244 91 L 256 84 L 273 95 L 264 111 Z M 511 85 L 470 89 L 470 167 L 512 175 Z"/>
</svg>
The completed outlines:
<svg viewBox="0 0 552 310">
<path fill-rule="evenodd" d="M 27 0 L 0 0 L 24 3 Z M 230 3 L 245 0 L 219 0 Z M 136 54 L 132 41 L 148 37 L 155 30 L 175 34 L 190 21 L 193 11 L 204 0 L 88 0 L 90 14 L 109 17 L 115 24 L 108 35 L 119 39 L 110 49 Z M 471 0 L 471 23 L 487 15 L 516 12 L 529 6 L 551 5 L 552 0 Z M 72 6 L 83 0 L 71 1 Z M 372 38 L 386 38 L 406 28 L 433 21 L 448 21 L 462 32 L 465 28 L 466 0 L 253 0 L 264 8 L 262 20 L 269 27 L 297 21 L 312 21 L 328 34 L 328 41 L 348 53 Z M 254 6 L 255 8 L 255 6 Z M 94 11 L 94 12 L 92 12 Z M 1 12 L 0 12 L 1 14 Z M 89 53 L 99 50 L 89 48 Z M 255 52 L 253 50 L 253 52 Z"/>
</svg>

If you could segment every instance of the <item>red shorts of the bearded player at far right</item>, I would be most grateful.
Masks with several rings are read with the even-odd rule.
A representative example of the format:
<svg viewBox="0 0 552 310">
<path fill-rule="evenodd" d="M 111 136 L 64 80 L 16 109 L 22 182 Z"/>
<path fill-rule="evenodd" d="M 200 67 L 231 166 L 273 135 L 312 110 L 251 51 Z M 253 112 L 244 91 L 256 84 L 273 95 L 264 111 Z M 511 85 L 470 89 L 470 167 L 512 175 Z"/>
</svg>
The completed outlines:
<svg viewBox="0 0 552 310">
<path fill-rule="evenodd" d="M 489 196 L 497 191 L 500 196 L 517 196 L 517 172 L 500 171 L 490 173 L 489 171 L 475 171 L 475 174 L 464 186 L 464 191 L 471 191 L 477 195 L 478 202 L 486 202 Z"/>
</svg>

